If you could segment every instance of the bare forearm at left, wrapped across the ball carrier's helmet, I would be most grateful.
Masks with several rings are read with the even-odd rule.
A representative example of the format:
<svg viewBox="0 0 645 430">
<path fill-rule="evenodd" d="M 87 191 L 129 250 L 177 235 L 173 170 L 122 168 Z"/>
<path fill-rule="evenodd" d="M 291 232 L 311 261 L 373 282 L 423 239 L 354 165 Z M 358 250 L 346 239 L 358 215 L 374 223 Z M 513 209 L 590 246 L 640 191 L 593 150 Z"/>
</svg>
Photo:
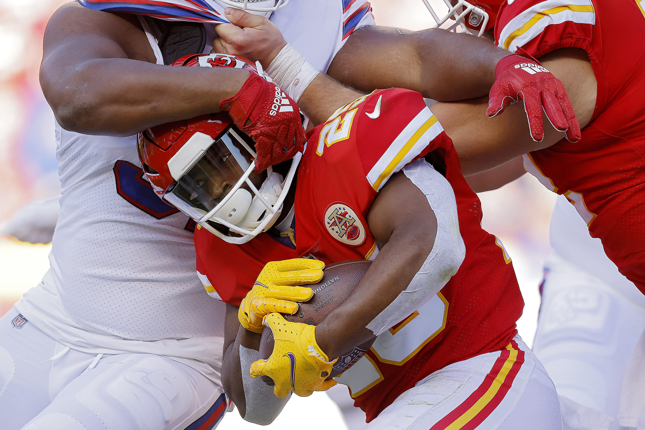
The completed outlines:
<svg viewBox="0 0 645 430">
<path fill-rule="evenodd" d="M 166 122 L 219 112 L 248 72 L 94 59 L 74 68 L 43 62 L 41 85 L 59 124 L 92 135 L 129 136 Z"/>
</svg>

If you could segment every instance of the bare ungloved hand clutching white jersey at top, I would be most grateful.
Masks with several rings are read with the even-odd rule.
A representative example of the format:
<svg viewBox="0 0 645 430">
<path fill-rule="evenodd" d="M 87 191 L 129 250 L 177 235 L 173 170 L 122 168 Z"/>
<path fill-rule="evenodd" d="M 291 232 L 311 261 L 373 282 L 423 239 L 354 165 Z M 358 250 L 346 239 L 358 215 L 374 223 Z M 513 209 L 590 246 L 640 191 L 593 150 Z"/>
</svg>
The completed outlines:
<svg viewBox="0 0 645 430">
<path fill-rule="evenodd" d="M 224 13 L 230 24 L 217 24 L 211 52 L 242 55 L 267 68 L 286 45 L 280 29 L 265 17 L 241 9 L 226 8 Z"/>
</svg>

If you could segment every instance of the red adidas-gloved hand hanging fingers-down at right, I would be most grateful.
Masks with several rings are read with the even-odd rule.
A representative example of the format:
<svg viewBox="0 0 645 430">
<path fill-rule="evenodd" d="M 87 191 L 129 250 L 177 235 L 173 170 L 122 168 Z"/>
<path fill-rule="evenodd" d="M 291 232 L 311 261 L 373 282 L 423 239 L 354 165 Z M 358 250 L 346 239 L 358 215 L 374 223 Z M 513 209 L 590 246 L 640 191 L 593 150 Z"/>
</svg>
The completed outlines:
<svg viewBox="0 0 645 430">
<path fill-rule="evenodd" d="M 486 115 L 494 117 L 511 104 L 524 101 L 534 141 L 540 142 L 544 137 L 542 109 L 556 130 L 564 132 L 571 142 L 579 141 L 580 124 L 560 79 L 524 51 L 518 52 L 521 55 L 507 55 L 497 63 Z"/>
</svg>

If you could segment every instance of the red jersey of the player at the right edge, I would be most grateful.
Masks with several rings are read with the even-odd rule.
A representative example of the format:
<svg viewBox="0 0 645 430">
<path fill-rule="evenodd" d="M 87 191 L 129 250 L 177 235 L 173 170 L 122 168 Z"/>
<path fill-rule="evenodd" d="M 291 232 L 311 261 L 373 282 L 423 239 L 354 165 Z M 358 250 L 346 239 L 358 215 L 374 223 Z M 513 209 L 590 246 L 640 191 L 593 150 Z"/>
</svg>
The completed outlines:
<svg viewBox="0 0 645 430">
<path fill-rule="evenodd" d="M 508 4 L 510 3 L 510 5 Z M 540 57 L 584 49 L 598 82 L 582 139 L 524 155 L 524 166 L 575 205 L 620 273 L 645 292 L 645 12 L 640 0 L 515 0 L 495 40 Z"/>
</svg>

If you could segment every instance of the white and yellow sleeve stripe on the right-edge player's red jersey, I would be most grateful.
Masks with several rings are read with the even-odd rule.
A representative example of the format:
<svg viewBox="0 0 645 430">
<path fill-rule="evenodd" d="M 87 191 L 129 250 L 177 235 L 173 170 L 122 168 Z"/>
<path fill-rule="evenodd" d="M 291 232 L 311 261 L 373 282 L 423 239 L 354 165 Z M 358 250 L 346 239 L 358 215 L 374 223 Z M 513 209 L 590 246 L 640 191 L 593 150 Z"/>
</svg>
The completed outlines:
<svg viewBox="0 0 645 430">
<path fill-rule="evenodd" d="M 515 52 L 518 46 L 531 41 L 551 24 L 572 21 L 595 24 L 596 15 L 591 0 L 547 0 L 533 5 L 517 15 L 502 29 L 499 47 Z"/>
</svg>

